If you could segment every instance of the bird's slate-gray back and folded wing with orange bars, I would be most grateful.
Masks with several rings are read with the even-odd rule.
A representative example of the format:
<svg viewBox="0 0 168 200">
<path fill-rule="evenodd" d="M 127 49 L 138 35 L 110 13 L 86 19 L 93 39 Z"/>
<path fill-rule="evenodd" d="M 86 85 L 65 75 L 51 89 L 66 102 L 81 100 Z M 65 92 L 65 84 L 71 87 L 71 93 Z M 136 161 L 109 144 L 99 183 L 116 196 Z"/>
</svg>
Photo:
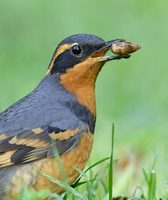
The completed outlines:
<svg viewBox="0 0 168 200">
<path fill-rule="evenodd" d="M 86 131 L 61 100 L 73 101 L 74 97 L 52 81 L 44 79 L 0 114 L 0 168 L 52 156 L 53 147 L 58 154 L 67 152 Z"/>
</svg>

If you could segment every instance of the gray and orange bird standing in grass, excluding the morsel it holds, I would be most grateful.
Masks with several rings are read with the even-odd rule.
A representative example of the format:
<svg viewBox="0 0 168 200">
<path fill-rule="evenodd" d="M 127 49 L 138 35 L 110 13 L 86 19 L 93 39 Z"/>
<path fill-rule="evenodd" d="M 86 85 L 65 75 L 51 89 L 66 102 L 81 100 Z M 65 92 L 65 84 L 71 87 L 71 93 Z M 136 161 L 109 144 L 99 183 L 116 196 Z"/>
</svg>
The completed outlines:
<svg viewBox="0 0 168 200">
<path fill-rule="evenodd" d="M 74 34 L 56 48 L 47 73 L 28 95 L 0 113 L 0 196 L 16 198 L 23 187 L 61 194 L 79 177 L 92 149 L 95 83 L 103 65 L 129 55 L 105 55 L 111 45 L 92 34 Z"/>
</svg>

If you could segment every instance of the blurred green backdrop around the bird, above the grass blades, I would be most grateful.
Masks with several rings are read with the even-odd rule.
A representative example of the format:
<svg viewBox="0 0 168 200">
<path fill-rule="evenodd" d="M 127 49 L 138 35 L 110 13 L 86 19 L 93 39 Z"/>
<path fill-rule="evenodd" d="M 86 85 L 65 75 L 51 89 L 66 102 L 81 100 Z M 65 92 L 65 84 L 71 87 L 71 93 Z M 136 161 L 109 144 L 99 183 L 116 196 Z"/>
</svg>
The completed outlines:
<svg viewBox="0 0 168 200">
<path fill-rule="evenodd" d="M 142 49 L 106 64 L 97 80 L 97 126 L 91 160 L 135 155 L 140 167 L 157 158 L 160 185 L 168 178 L 168 1 L 1 0 L 0 111 L 44 76 L 56 45 L 74 33 L 124 38 Z M 143 159 L 141 159 L 141 157 Z"/>
</svg>

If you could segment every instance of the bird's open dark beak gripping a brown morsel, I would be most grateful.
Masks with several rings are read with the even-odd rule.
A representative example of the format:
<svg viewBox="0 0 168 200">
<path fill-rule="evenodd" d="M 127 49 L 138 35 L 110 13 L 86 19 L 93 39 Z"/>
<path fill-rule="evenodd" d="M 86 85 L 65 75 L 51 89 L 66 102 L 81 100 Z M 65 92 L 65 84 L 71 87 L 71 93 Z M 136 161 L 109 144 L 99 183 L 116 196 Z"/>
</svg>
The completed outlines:
<svg viewBox="0 0 168 200">
<path fill-rule="evenodd" d="M 125 41 L 124 39 L 116 39 L 116 40 L 111 40 L 111 41 L 105 42 L 103 47 L 101 47 L 100 49 L 98 49 L 92 53 L 91 58 L 96 59 L 97 62 L 107 62 L 110 60 L 129 58 L 130 55 L 112 54 L 112 55 L 105 56 L 106 52 L 111 49 L 111 47 L 114 43 L 120 43 L 120 42 L 124 42 L 124 41 Z M 112 53 L 112 51 L 111 51 L 111 53 Z"/>
</svg>

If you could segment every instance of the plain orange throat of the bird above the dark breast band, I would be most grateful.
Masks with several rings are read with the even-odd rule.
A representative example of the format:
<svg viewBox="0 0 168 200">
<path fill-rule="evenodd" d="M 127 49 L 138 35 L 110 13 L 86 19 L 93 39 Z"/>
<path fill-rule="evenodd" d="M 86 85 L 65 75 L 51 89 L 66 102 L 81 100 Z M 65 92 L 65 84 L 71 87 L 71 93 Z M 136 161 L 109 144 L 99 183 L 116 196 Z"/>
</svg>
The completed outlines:
<svg viewBox="0 0 168 200">
<path fill-rule="evenodd" d="M 96 116 L 95 82 L 103 64 L 88 63 L 88 60 L 80 63 L 61 75 L 61 84 L 73 93 L 78 102 L 84 105 Z"/>
</svg>

